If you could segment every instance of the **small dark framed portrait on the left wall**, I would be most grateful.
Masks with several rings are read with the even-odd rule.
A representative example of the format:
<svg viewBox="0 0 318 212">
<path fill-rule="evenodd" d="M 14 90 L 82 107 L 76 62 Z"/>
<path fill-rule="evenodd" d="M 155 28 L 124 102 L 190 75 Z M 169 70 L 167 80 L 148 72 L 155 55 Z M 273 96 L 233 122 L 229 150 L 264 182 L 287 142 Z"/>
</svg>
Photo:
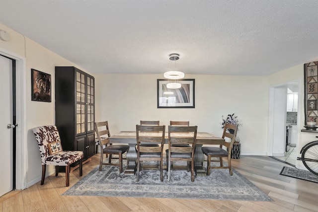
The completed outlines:
<svg viewBox="0 0 318 212">
<path fill-rule="evenodd" d="M 31 69 L 31 100 L 51 102 L 51 74 Z"/>
</svg>

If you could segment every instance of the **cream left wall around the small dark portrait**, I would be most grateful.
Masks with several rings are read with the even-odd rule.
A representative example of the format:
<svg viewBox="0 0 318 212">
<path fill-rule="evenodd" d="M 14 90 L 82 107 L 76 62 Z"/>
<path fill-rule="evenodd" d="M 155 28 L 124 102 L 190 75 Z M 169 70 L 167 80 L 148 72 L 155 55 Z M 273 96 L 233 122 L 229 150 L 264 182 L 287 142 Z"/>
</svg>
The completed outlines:
<svg viewBox="0 0 318 212">
<path fill-rule="evenodd" d="M 26 69 L 24 70 L 26 83 L 25 87 L 22 89 L 26 94 L 26 111 L 24 111 L 24 114 L 26 118 L 25 134 L 27 135 L 27 139 L 25 139 L 24 146 L 26 147 L 25 160 L 28 187 L 38 182 L 41 179 L 42 173 L 39 147 L 35 140 L 32 128 L 55 124 L 55 66 L 76 65 L 35 43 L 29 38 L 15 32 L 4 24 L 0 23 L 0 29 L 5 30 L 10 37 L 8 41 L 0 40 L 0 49 L 26 58 Z M 80 69 L 80 67 L 78 68 Z M 31 101 L 31 69 L 51 74 L 51 102 Z M 19 144 L 17 143 L 17 145 Z M 47 167 L 47 174 L 54 172 L 54 167 Z"/>
</svg>

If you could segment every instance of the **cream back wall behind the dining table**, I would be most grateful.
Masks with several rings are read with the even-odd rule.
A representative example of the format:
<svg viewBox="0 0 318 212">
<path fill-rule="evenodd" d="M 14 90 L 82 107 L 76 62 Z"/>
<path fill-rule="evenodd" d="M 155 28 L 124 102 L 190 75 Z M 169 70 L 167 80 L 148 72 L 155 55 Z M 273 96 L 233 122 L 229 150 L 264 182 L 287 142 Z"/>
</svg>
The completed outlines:
<svg viewBox="0 0 318 212">
<path fill-rule="evenodd" d="M 242 126 L 241 154 L 266 155 L 268 77 L 188 75 L 195 79 L 195 108 L 157 108 L 162 74 L 95 74 L 96 121 L 107 120 L 111 134 L 133 131 L 140 120 L 190 121 L 198 131 L 222 135 L 222 115 L 235 113 Z"/>
</svg>

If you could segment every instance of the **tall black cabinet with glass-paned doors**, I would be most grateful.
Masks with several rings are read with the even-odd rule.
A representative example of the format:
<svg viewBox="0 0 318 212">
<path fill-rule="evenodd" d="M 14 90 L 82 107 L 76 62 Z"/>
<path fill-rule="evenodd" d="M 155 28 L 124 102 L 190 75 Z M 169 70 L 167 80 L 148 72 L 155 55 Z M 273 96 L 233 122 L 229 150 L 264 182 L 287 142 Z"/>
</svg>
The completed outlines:
<svg viewBox="0 0 318 212">
<path fill-rule="evenodd" d="M 94 77 L 75 67 L 55 67 L 55 123 L 63 150 L 95 153 Z"/>
</svg>

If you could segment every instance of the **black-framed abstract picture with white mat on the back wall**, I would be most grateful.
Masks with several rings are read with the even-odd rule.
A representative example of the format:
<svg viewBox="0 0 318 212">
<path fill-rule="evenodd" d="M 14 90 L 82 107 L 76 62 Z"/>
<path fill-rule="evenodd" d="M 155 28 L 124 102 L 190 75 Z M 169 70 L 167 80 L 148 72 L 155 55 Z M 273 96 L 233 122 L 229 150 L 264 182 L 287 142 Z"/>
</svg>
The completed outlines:
<svg viewBox="0 0 318 212">
<path fill-rule="evenodd" d="M 168 79 L 157 79 L 157 108 L 194 108 L 194 79 L 177 82 L 180 88 L 167 88 Z"/>
</svg>

